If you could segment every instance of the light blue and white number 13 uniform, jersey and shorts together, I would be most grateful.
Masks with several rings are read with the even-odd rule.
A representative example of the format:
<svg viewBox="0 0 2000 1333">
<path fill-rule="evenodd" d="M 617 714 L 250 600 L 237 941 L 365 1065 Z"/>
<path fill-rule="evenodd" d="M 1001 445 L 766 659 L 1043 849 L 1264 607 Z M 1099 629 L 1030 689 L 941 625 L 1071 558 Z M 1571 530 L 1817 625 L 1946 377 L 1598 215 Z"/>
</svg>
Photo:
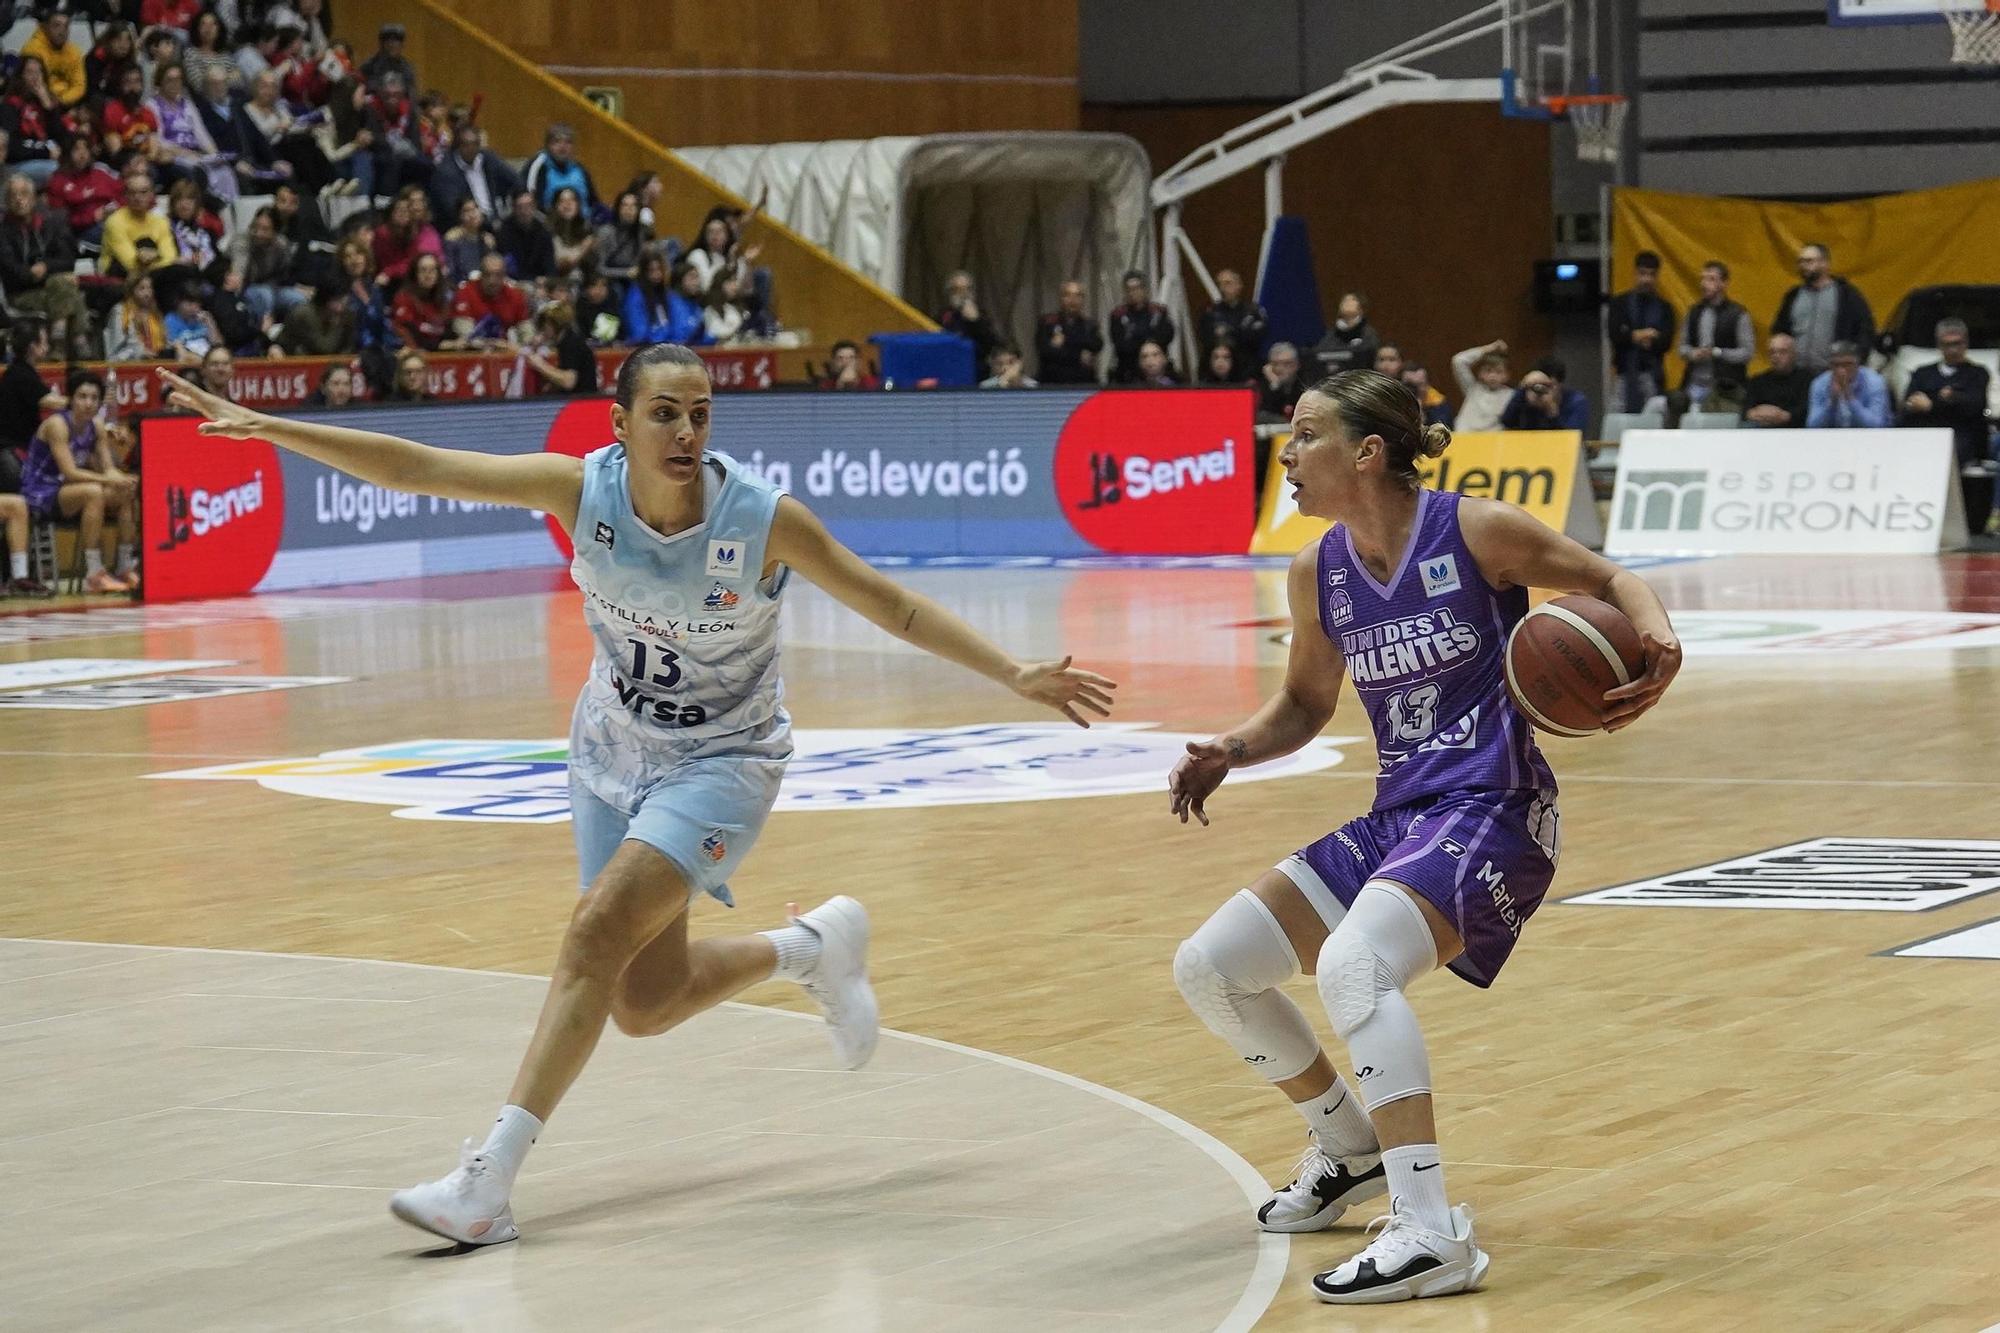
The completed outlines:
<svg viewBox="0 0 2000 1333">
<path fill-rule="evenodd" d="M 570 787 L 588 889 L 624 839 L 728 901 L 790 759 L 778 598 L 762 578 L 782 494 L 708 452 L 702 522 L 662 536 L 632 510 L 624 444 L 584 458 L 570 576 L 596 640 L 570 721 Z"/>
</svg>

